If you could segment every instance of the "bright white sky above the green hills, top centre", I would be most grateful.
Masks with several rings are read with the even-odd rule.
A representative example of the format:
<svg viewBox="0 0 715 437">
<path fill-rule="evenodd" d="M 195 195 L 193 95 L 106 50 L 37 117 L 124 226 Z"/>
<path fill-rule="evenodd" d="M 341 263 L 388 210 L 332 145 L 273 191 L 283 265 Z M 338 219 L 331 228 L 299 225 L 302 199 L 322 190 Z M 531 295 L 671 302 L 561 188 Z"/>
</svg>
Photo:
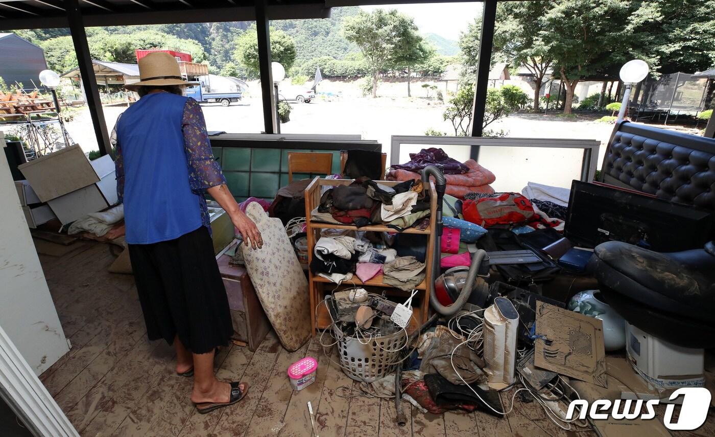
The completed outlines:
<svg viewBox="0 0 715 437">
<path fill-rule="evenodd" d="M 447 39 L 458 40 L 467 24 L 481 15 L 482 3 L 430 3 L 430 4 L 385 4 L 380 6 L 360 6 L 365 11 L 374 9 L 397 9 L 415 19 L 420 32 L 434 33 Z"/>
</svg>

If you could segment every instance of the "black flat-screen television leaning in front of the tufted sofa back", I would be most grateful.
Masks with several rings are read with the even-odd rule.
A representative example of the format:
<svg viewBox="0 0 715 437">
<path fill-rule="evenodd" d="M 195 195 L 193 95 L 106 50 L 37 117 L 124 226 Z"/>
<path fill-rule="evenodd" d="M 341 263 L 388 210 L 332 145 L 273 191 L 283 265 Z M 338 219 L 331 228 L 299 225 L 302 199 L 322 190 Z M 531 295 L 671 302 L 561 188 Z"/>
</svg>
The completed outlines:
<svg viewBox="0 0 715 437">
<path fill-rule="evenodd" d="M 700 249 L 714 237 L 715 214 L 617 187 L 574 180 L 564 234 L 573 245 L 616 240 L 656 252 Z"/>
</svg>

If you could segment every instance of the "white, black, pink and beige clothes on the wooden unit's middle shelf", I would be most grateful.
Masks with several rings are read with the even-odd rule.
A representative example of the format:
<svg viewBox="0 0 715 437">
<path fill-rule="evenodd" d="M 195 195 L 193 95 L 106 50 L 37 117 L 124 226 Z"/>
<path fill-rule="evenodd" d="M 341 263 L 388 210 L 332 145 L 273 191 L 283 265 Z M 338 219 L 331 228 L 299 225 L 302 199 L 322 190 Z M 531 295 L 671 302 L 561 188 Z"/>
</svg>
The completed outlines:
<svg viewBox="0 0 715 437">
<path fill-rule="evenodd" d="M 336 284 L 350 282 L 353 275 L 363 283 L 383 275 L 383 283 L 412 290 L 425 280 L 424 259 L 398 255 L 398 249 L 390 247 L 394 242 L 395 235 L 388 232 L 323 229 L 310 270 Z"/>
</svg>

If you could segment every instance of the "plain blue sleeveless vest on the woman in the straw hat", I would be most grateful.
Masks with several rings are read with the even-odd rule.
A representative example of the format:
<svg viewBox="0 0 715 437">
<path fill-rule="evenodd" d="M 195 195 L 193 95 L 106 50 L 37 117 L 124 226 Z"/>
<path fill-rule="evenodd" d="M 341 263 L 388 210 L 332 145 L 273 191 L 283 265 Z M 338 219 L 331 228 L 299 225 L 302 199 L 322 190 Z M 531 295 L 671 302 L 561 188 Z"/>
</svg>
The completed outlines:
<svg viewBox="0 0 715 437">
<path fill-rule="evenodd" d="M 117 122 L 129 244 L 174 240 L 202 225 L 184 149 L 186 101 L 187 97 L 165 92 L 147 94 Z"/>
</svg>

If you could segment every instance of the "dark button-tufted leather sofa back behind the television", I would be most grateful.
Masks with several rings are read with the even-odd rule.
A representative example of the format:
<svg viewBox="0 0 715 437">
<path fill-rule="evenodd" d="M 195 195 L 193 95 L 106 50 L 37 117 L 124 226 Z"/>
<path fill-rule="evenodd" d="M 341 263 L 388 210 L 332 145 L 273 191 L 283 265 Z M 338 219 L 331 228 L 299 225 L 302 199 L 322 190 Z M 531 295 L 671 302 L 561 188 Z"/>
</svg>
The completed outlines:
<svg viewBox="0 0 715 437">
<path fill-rule="evenodd" d="M 715 139 L 620 122 L 601 182 L 715 211 Z"/>
</svg>

